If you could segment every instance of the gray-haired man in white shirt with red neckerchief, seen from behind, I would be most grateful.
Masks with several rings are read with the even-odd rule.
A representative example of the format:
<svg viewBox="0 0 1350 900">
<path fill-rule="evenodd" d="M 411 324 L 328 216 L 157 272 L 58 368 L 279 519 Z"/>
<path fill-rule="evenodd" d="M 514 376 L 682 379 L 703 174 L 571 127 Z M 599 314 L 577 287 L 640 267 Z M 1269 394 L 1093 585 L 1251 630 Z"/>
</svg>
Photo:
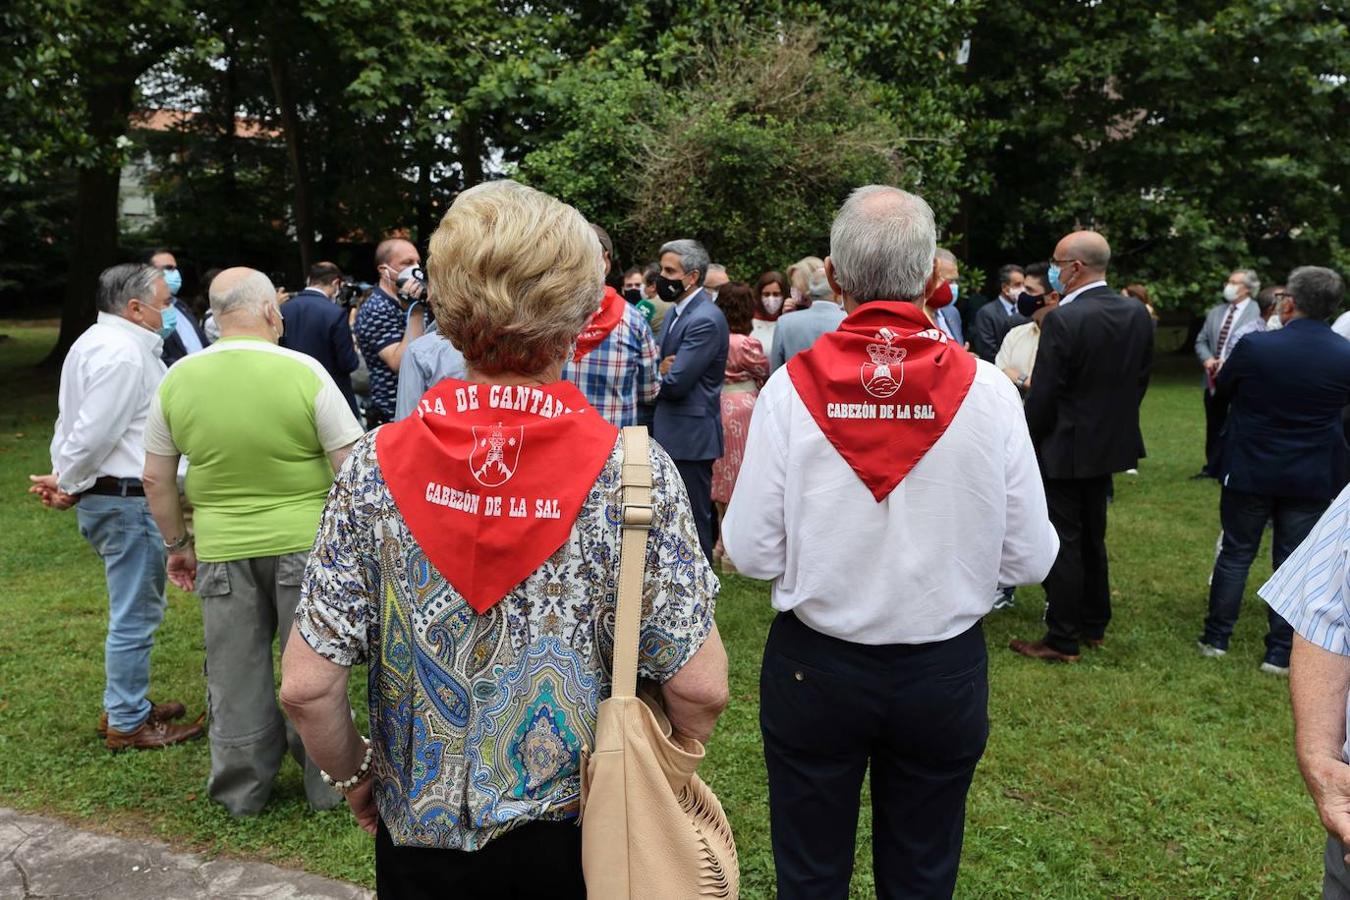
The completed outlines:
<svg viewBox="0 0 1350 900">
<path fill-rule="evenodd" d="M 980 619 L 1058 548 L 1017 389 L 925 312 L 934 232 L 895 188 L 844 202 L 825 273 L 848 317 L 760 391 L 724 521 L 779 611 L 760 729 L 787 900 L 848 893 L 868 772 L 876 895 L 952 895 L 988 738 Z"/>
</svg>

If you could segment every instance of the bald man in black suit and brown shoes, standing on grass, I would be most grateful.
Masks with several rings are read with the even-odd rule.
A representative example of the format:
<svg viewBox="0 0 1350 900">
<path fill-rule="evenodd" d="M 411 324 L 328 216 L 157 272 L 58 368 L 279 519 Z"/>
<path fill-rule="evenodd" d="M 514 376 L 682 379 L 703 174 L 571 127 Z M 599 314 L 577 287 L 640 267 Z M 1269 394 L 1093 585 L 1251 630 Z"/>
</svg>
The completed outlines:
<svg viewBox="0 0 1350 900">
<path fill-rule="evenodd" d="M 1139 402 L 1153 364 L 1153 320 L 1107 287 L 1111 247 L 1094 231 L 1064 237 L 1050 260 L 1058 308 L 1041 322 L 1026 422 L 1045 478 L 1060 555 L 1045 579 L 1045 637 L 1013 641 L 1040 660 L 1073 663 L 1111 621 L 1106 506 L 1111 474 L 1143 456 Z"/>
</svg>

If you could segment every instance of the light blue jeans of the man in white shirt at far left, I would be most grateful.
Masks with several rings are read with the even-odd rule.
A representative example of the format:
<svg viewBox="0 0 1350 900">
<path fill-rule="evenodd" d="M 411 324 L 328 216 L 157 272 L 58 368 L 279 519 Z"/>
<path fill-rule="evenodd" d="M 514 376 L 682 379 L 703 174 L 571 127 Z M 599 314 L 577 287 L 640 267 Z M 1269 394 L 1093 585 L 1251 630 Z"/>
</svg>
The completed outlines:
<svg viewBox="0 0 1350 900">
<path fill-rule="evenodd" d="M 103 708 L 109 727 L 135 731 L 150 715 L 150 648 L 165 617 L 163 538 L 143 497 L 85 494 L 76 517 L 108 575 Z"/>
</svg>

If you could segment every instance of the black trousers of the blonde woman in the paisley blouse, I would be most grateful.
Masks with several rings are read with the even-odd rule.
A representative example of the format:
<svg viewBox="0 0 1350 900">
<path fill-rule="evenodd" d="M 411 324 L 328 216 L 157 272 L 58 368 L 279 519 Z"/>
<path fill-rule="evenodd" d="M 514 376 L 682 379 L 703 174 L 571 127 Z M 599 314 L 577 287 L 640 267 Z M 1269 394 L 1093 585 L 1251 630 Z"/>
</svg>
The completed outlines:
<svg viewBox="0 0 1350 900">
<path fill-rule="evenodd" d="M 375 893 L 379 900 L 586 900 L 582 830 L 575 820 L 531 822 L 481 850 L 436 850 L 394 846 L 381 820 L 375 833 Z"/>
</svg>

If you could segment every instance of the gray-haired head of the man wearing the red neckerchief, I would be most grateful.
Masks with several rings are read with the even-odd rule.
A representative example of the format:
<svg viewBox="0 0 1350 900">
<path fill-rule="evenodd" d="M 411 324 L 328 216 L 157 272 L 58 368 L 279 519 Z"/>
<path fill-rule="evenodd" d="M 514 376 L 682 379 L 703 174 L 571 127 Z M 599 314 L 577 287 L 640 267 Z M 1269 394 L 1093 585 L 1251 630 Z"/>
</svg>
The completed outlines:
<svg viewBox="0 0 1350 900">
<path fill-rule="evenodd" d="M 936 254 L 933 209 L 899 188 L 859 188 L 840 206 L 830 228 L 834 279 L 860 304 L 921 298 Z"/>
</svg>

